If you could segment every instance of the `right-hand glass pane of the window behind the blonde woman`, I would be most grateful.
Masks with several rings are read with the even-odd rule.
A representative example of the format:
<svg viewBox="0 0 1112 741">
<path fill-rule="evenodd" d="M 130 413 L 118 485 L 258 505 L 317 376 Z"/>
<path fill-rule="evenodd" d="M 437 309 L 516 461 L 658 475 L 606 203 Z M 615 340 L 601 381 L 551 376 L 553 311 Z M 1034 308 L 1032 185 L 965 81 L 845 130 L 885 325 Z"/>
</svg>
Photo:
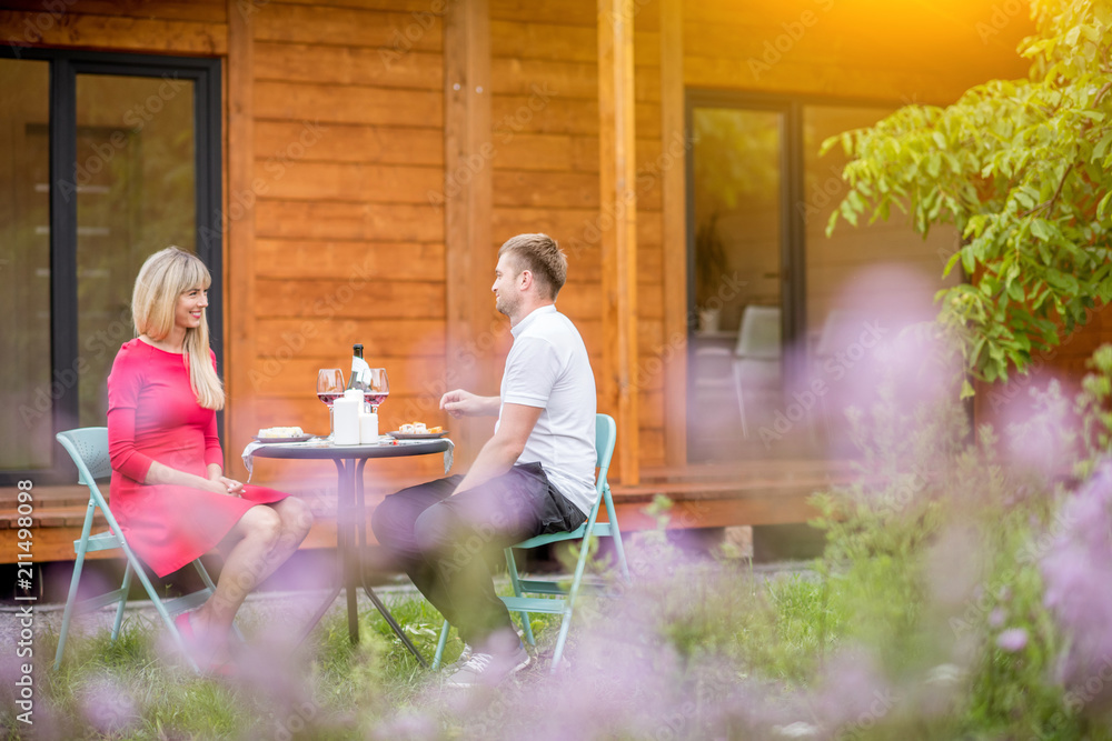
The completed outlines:
<svg viewBox="0 0 1112 741">
<path fill-rule="evenodd" d="M 79 427 L 103 424 L 105 381 L 131 334 L 139 267 L 169 244 L 196 250 L 193 88 L 191 80 L 77 76 Z M 157 114 L 135 112 L 156 100 Z"/>
</svg>

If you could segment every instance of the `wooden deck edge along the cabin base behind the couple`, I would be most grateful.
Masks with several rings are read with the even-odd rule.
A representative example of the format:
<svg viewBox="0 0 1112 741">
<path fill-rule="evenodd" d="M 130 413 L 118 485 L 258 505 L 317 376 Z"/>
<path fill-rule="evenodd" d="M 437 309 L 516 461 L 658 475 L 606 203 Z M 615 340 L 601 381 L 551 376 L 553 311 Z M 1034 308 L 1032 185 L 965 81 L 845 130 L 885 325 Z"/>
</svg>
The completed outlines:
<svg viewBox="0 0 1112 741">
<path fill-rule="evenodd" d="M 737 464 L 649 468 L 641 483 L 613 489 L 623 531 L 656 527 L 645 508 L 657 494 L 675 503 L 669 528 L 721 528 L 738 524 L 805 522 L 816 513 L 807 503 L 815 491 L 847 481 L 848 467 L 824 461 L 747 461 Z M 336 508 L 331 492 L 309 488 L 304 493 L 316 523 L 302 549 L 336 547 Z M 368 511 L 388 491 L 368 491 Z M 0 563 L 16 561 L 17 492 L 0 489 Z M 85 487 L 42 487 L 34 490 L 32 553 L 36 562 L 73 559 L 73 541 L 81 535 L 89 501 Z M 604 513 L 605 517 L 605 513 Z M 103 520 L 99 519 L 102 529 Z M 90 558 L 111 557 L 93 553 Z"/>
</svg>

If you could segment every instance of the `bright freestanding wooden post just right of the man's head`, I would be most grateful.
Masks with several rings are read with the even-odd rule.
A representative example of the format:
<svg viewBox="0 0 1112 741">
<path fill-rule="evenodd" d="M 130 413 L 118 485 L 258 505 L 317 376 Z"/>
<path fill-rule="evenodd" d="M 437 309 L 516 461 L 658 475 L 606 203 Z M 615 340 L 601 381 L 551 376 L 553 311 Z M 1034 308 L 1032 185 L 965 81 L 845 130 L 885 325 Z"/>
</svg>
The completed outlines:
<svg viewBox="0 0 1112 741">
<path fill-rule="evenodd" d="M 633 0 L 598 0 L 598 163 L 603 249 L 603 399 L 616 412 L 623 483 L 641 478 Z"/>
</svg>

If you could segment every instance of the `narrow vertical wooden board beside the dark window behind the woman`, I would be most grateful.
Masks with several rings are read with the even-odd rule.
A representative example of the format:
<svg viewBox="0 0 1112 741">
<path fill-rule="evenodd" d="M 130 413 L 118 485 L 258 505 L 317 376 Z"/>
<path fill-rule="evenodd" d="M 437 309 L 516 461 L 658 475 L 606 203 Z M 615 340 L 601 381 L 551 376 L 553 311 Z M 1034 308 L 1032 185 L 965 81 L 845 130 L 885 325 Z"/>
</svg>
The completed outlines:
<svg viewBox="0 0 1112 741">
<path fill-rule="evenodd" d="M 227 217 L 232 193 L 251 192 L 255 167 L 255 22 L 254 13 L 244 12 L 241 3 L 228 0 L 228 78 L 226 110 L 227 147 L 222 160 L 228 163 L 224 190 L 225 281 L 224 337 L 225 389 L 225 470 L 241 471 L 237 451 L 250 442 L 258 430 L 255 409 L 257 390 L 250 381 L 257 349 L 255 347 L 255 208 L 239 219 Z M 238 210 L 237 210 L 238 212 Z M 235 475 L 235 474 L 229 474 Z"/>
</svg>

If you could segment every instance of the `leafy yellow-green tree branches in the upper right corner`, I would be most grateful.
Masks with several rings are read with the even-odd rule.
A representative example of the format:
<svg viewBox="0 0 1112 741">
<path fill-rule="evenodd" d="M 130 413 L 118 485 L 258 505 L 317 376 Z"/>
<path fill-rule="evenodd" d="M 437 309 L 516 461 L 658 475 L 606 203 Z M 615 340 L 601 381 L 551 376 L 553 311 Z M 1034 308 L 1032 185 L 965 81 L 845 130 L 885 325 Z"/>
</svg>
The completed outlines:
<svg viewBox="0 0 1112 741">
<path fill-rule="evenodd" d="M 838 143 L 848 192 L 832 214 L 916 231 L 950 222 L 971 282 L 940 291 L 940 321 L 970 371 L 1007 379 L 1112 297 L 1112 0 L 1032 0 L 1036 33 L 1020 46 L 1024 80 L 994 80 L 946 108 L 909 106 Z M 963 395 L 972 393 L 964 385 Z"/>
</svg>

